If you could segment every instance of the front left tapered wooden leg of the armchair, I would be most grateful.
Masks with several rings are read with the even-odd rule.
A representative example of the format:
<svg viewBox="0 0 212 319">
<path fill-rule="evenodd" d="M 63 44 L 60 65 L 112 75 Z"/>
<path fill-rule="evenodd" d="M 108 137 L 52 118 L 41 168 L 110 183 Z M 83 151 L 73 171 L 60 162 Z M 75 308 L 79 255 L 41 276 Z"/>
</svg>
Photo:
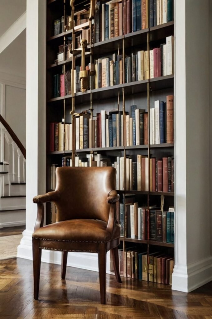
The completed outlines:
<svg viewBox="0 0 212 319">
<path fill-rule="evenodd" d="M 36 239 L 33 239 L 32 241 L 32 251 L 33 251 L 34 299 L 38 300 L 42 249 L 39 248 L 39 241 Z"/>
</svg>

